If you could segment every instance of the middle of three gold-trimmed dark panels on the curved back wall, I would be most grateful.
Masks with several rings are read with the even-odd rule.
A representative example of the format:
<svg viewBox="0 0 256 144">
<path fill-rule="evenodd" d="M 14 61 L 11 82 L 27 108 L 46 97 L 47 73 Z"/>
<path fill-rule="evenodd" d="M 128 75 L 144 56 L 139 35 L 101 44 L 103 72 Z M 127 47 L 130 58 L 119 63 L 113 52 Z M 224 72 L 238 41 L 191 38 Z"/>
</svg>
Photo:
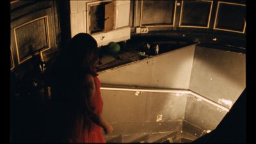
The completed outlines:
<svg viewBox="0 0 256 144">
<path fill-rule="evenodd" d="M 180 27 L 209 28 L 212 1 L 182 1 Z"/>
</svg>

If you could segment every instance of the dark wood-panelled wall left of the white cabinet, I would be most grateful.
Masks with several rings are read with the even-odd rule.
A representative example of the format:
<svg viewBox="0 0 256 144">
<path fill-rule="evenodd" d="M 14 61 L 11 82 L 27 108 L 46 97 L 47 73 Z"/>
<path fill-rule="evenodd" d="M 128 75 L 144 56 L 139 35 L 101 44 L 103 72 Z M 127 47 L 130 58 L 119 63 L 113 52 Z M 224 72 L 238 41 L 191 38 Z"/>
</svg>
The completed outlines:
<svg viewBox="0 0 256 144">
<path fill-rule="evenodd" d="M 44 61 L 51 60 L 60 46 L 65 45 L 70 26 L 69 17 L 65 17 L 68 5 L 64 4 L 68 4 L 67 1 L 10 3 L 10 67 L 13 72 L 25 70 L 33 55 Z"/>
</svg>

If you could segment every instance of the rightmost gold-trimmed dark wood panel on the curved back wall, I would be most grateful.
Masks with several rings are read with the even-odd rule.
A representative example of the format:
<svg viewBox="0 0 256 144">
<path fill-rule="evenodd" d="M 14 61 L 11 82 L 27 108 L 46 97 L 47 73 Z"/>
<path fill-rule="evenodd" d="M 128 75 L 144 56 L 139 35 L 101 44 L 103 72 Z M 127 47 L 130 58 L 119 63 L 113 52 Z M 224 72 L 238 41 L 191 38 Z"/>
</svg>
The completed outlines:
<svg viewBox="0 0 256 144">
<path fill-rule="evenodd" d="M 245 4 L 218 2 L 214 29 L 244 33 Z"/>
</svg>

